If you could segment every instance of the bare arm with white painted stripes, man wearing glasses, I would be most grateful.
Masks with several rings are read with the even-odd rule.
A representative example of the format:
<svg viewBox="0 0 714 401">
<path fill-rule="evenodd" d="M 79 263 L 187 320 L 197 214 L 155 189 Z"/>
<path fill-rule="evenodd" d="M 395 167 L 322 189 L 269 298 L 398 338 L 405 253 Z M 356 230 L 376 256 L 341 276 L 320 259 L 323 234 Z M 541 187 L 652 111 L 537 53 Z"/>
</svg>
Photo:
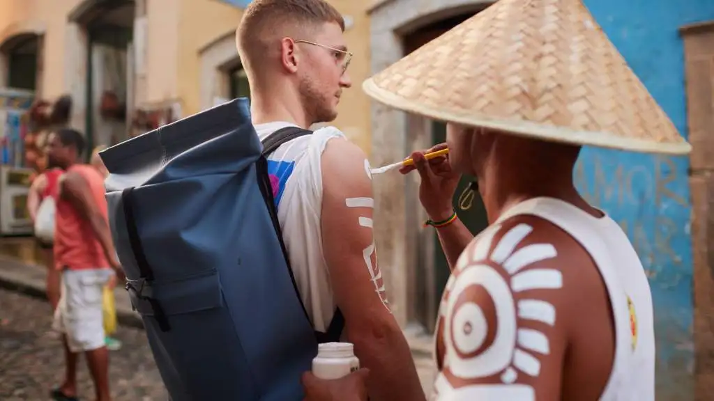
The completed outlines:
<svg viewBox="0 0 714 401">
<path fill-rule="evenodd" d="M 371 400 L 424 400 L 411 350 L 388 309 L 372 234 L 374 200 L 364 153 L 341 138 L 331 140 L 322 156 L 322 178 L 323 252 L 347 339 L 361 365 L 371 370 Z"/>
</svg>

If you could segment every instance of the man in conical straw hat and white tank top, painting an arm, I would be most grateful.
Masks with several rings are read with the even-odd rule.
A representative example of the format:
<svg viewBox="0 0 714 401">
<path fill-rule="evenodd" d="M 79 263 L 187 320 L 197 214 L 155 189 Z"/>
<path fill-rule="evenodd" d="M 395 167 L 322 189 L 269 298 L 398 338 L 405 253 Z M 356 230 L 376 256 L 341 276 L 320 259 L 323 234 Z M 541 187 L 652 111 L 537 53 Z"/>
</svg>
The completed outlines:
<svg viewBox="0 0 714 401">
<path fill-rule="evenodd" d="M 448 122 L 448 163 L 413 154 L 452 268 L 437 399 L 654 400 L 645 271 L 615 221 L 580 197 L 573 166 L 583 145 L 690 146 L 585 6 L 500 0 L 363 88 Z M 461 173 L 478 177 L 491 223 L 476 238 L 451 206 Z"/>
</svg>

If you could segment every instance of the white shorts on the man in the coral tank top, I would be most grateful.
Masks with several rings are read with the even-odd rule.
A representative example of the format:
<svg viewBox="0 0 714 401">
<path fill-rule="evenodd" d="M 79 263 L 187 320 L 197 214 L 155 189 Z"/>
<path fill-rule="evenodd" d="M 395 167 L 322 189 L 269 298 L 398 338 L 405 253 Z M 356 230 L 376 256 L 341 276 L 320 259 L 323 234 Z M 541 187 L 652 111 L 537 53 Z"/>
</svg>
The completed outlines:
<svg viewBox="0 0 714 401">
<path fill-rule="evenodd" d="M 71 352 L 104 347 L 102 290 L 114 274 L 109 268 L 64 270 L 52 328 L 67 337 Z"/>
</svg>

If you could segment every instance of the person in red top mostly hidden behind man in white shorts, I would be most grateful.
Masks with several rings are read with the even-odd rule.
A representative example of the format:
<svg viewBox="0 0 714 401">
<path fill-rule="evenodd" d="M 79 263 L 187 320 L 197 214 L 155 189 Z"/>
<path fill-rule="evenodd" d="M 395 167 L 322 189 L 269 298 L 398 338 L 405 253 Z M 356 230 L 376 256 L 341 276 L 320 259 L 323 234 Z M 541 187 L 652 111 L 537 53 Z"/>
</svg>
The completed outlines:
<svg viewBox="0 0 714 401">
<path fill-rule="evenodd" d="M 57 203 L 57 195 L 59 188 L 59 177 L 62 175 L 62 170 L 51 166 L 48 164 L 46 171 L 40 173 L 32 181 L 29 193 L 27 195 L 27 211 L 30 215 L 30 220 L 34 225 L 37 220 L 37 213 L 39 211 L 42 201 L 46 198 L 54 199 L 55 204 Z M 56 270 L 54 266 L 54 255 L 53 243 L 43 240 L 41 238 L 36 238 L 37 245 L 42 250 L 42 257 L 47 268 L 47 279 L 45 290 L 47 293 L 47 299 L 52 307 L 52 310 L 57 308 L 57 303 L 59 303 L 60 295 L 60 281 L 61 273 Z"/>
</svg>

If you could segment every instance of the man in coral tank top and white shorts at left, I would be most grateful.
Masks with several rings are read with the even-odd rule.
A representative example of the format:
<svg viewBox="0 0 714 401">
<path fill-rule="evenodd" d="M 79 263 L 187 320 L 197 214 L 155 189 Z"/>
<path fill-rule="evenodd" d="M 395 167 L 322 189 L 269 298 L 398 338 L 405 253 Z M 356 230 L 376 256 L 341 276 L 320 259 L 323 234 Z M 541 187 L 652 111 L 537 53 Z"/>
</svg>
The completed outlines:
<svg viewBox="0 0 714 401">
<path fill-rule="evenodd" d="M 65 379 L 51 391 L 59 401 L 76 400 L 76 367 L 84 352 L 96 400 L 109 401 L 109 352 L 105 345 L 102 288 L 116 273 L 123 278 L 109 232 L 104 178 L 80 164 L 84 137 L 62 128 L 51 133 L 48 156 L 66 173 L 59 181 L 54 259 L 62 291 L 53 327 L 63 334 Z M 112 271 L 114 270 L 114 272 Z"/>
</svg>

